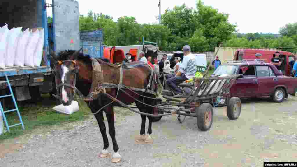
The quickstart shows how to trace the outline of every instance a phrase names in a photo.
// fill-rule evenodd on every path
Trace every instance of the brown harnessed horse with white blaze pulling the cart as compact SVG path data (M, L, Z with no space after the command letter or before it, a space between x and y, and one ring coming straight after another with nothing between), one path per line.
M93 75L93 65L92 59L89 56L84 56L80 51L62 51L57 56L52 52L52 56L55 60L55 67L53 68L53 72L56 78L57 85L57 98L59 98L60 102L63 105L70 105L72 100L74 99L75 90L79 90L83 96L90 95L92 92L92 86L94 85L94 75ZM104 61L103 59L97 59L99 62L99 66L103 71L104 83L119 84L122 82L125 86L130 86L134 88L138 88L139 90L144 90L150 83L150 77L152 74L151 67L148 64L141 64L139 62L128 63L127 65L123 65L122 73L120 67L115 64L110 64L108 61ZM134 67L133 67L134 65ZM96 67L97 68L97 67ZM122 75L122 76L121 76ZM122 77L122 79L121 79ZM152 81L151 87L153 87L154 92L157 90L157 82ZM93 85L92 85L93 84ZM140 102L145 102L149 105L155 105L157 100L154 99L156 95L152 93L148 93L145 91L138 91L135 94L129 89L124 89L125 92L119 90L117 87L107 88L104 90L107 94L110 94L112 97L116 97L120 101L125 104L136 103L137 108L144 113L148 114L157 114L157 108L150 107L148 105L144 105ZM59 93L60 92L60 93ZM142 96L146 97L142 97ZM151 97L151 98L148 98ZM137 99L138 101L136 101ZM109 142L106 134L106 128L104 123L104 117L102 111L99 111L105 105L113 102L110 98L108 98L104 93L99 93L97 99L91 99L90 101L86 101L88 103L91 112L94 114L97 119L102 137L103 137L103 149L100 153L100 157L107 157ZM103 108L105 111L109 134L112 138L113 143L113 151L114 154L112 156L112 162L119 162L121 160L121 155L119 155L118 150L119 146L116 141L116 132L114 127L114 111L113 106L121 106L119 103L113 102L110 105L107 105ZM149 119L149 128L147 131L147 135L145 135L145 123L146 123L146 115L141 115L141 128L140 128L140 136L137 136L137 142L145 142L151 143L151 126L153 117L148 116Z

